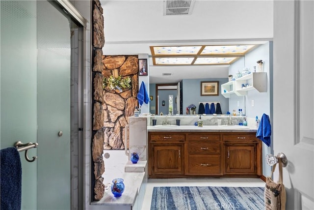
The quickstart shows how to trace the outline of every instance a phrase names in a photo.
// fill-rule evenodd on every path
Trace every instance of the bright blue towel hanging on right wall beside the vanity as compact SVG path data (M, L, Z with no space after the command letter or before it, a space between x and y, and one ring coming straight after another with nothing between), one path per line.
M260 120L259 128L256 132L256 137L262 140L268 147L270 147L270 136L271 136L271 125L269 116L266 114L262 115Z

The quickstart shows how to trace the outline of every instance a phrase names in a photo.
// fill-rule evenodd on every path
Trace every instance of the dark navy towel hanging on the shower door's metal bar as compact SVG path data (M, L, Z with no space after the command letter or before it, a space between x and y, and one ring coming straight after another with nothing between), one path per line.
M0 150L1 156L1 210L20 210L22 193L22 166L14 147Z

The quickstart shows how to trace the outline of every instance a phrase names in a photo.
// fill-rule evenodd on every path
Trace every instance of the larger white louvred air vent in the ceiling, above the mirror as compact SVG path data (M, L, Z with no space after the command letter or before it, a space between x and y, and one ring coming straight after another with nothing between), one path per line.
M190 15L195 0L164 0L163 15Z

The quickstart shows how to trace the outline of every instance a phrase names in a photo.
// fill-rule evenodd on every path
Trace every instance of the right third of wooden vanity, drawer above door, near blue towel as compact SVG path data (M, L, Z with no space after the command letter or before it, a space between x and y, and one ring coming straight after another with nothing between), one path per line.
M226 175L262 175L262 143L255 134L223 135Z

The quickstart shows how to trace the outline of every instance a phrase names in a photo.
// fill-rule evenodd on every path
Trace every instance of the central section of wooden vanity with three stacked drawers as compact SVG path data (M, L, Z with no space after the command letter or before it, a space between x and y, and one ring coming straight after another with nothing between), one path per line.
M186 145L186 175L222 175L219 133L189 133Z

